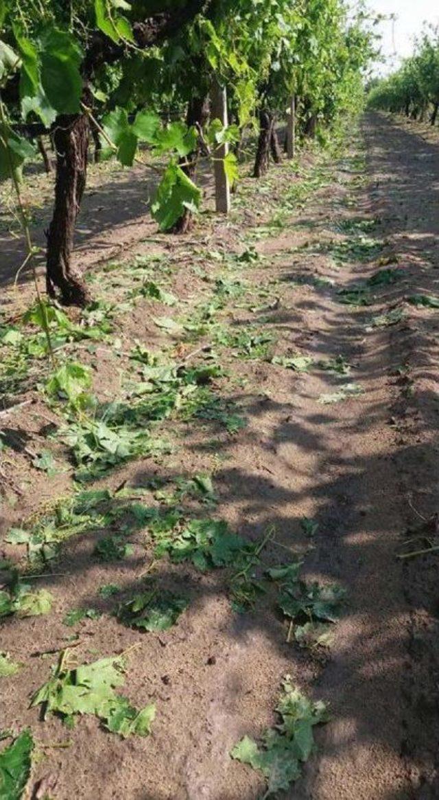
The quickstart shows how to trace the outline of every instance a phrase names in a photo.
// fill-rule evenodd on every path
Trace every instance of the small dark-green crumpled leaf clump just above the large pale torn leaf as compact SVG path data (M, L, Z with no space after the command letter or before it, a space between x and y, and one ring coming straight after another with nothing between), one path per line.
M168 630L186 609L187 600L157 588L134 594L119 606L118 618L125 625L142 630Z

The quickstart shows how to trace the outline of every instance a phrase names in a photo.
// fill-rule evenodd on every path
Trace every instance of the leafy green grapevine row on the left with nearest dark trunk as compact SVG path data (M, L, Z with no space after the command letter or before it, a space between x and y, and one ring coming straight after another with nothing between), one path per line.
M31 266L20 182L50 134L50 298L78 306L91 299L72 264L91 138L98 158L158 172L151 213L161 230L186 232L202 202L200 159L221 158L233 184L253 132L260 176L270 151L281 158L275 123L291 98L299 133L309 136L358 106L371 30L365 12L348 15L342 0L2 0L0 180L14 184ZM230 124L212 113L215 86L227 89Z

